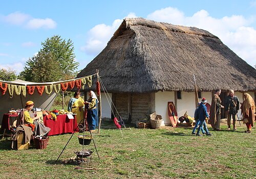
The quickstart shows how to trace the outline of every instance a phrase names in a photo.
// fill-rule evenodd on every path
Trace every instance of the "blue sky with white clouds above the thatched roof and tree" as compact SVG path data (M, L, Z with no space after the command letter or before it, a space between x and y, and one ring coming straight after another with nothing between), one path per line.
M256 65L256 0L0 2L0 69L16 74L54 35L72 40L82 70L106 47L125 17L207 30L248 64Z

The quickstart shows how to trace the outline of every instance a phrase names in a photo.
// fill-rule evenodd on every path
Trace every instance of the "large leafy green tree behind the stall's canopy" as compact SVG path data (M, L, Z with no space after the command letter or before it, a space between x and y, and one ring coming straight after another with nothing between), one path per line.
M26 62L20 76L33 82L67 80L75 77L78 64L73 42L56 35L42 42L42 49Z

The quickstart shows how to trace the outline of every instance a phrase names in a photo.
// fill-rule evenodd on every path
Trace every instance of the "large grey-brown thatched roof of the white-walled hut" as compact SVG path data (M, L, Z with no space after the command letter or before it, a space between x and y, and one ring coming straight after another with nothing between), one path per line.
M112 93L256 91L256 70L208 31L126 18L77 77L99 70Z

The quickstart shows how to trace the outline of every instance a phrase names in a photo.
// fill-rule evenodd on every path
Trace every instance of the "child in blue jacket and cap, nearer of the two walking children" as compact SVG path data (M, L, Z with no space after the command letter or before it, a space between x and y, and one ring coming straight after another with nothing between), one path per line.
M197 136L202 136L202 135L200 135L200 130L202 130L203 125L206 130L206 135L211 136L211 133L209 132L206 122L205 122L205 118L209 118L209 115L207 113L207 108L205 106L206 102L207 102L207 100L205 98L203 98L198 107L197 113L195 114L195 116L198 117L198 121L199 121L199 127L197 129Z

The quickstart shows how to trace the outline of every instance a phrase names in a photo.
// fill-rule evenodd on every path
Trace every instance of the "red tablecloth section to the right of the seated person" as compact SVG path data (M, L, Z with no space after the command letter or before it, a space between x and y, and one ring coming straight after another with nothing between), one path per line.
M44 116L44 124L50 127L51 130L48 136L59 135L61 133L72 133L77 128L76 115L73 115L74 119L69 119L67 115L57 115L57 120L47 119ZM78 129L77 129L78 131Z

